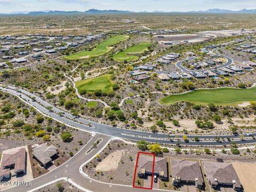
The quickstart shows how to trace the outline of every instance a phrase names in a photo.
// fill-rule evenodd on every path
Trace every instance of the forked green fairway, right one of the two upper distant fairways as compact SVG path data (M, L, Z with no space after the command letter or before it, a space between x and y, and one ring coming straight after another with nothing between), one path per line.
M115 55L113 55L113 58L117 61L132 61L132 60L136 60L139 57L136 55L129 55L130 54L134 54L134 53L143 53L144 51L147 50L147 47L150 46L149 42L142 42L139 43L137 45L133 45L128 47L126 50L124 51L119 51L118 53L116 53Z

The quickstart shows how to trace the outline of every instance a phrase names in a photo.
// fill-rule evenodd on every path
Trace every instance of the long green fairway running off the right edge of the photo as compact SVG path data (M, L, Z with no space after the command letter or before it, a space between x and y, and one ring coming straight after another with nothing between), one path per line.
M183 94L171 94L162 98L160 103L173 104L180 101L193 102L201 105L214 103L220 106L237 106L239 103L256 101L256 87L249 89L202 89Z

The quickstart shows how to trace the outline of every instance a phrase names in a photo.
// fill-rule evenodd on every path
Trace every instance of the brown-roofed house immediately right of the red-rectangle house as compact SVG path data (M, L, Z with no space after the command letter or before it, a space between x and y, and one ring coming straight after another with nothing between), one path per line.
M173 185L178 185L180 182L186 182L195 183L197 188L201 188L203 186L204 179L198 161L171 159L171 167Z

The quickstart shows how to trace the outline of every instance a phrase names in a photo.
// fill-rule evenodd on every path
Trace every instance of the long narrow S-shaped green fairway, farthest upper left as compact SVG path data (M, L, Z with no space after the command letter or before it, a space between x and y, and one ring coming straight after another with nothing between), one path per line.
M65 56L65 58L69 60L76 60L76 59L85 59L88 57L96 57L110 51L111 50L109 47L110 45L114 45L116 43L124 41L127 38L129 38L129 36L127 35L115 35L113 37L110 37L102 41L100 44L96 45L96 47L92 51L80 51L71 55L67 55Z

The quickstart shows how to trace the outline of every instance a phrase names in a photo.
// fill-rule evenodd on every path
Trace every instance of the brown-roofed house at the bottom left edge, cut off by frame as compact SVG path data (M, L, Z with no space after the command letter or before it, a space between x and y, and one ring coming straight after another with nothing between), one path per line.
M3 153L0 165L0 180L10 178L13 175L19 175L26 172L26 149L20 148ZM14 168L14 174L11 175L10 169Z

